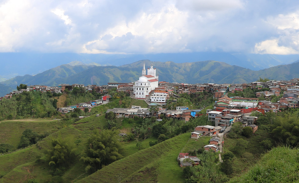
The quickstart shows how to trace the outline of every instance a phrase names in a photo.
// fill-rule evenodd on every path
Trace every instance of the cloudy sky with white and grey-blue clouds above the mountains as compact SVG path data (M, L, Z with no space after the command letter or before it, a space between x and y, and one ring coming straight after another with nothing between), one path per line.
M0 52L299 54L296 0L0 0Z

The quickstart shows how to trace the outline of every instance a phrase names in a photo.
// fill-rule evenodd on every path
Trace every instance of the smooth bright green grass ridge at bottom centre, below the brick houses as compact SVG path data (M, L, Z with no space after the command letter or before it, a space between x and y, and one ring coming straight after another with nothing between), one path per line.
M111 163L78 182L182 182L182 169L176 159L178 153L184 147L185 151L186 147L201 148L209 140L206 137L198 141L189 139L190 133L168 139Z

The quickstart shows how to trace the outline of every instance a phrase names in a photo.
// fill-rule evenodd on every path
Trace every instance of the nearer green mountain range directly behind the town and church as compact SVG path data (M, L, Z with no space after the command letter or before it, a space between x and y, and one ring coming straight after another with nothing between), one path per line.
M141 76L143 63L149 67L152 63L157 68L159 81L178 83L249 83L259 77L271 80L290 80L299 77L299 62L279 65L263 70L250 70L240 66L218 61L192 63L152 62L140 60L122 66L94 66L64 64L40 74L17 76L0 82L3 85L0 95L9 93L19 84L58 86L58 84L97 84L108 82L134 82ZM5 87L7 89L3 89ZM10 88L9 88L10 87Z

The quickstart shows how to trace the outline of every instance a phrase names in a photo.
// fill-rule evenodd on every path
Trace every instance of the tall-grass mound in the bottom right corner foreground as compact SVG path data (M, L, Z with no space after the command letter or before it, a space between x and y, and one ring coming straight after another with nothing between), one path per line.
M266 153L261 160L240 177L229 183L299 182L299 151L277 147Z

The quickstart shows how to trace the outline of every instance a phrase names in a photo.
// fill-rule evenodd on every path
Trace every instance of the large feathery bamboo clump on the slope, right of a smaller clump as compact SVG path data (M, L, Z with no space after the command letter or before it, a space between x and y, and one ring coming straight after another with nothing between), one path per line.
M95 172L116 160L121 159L123 151L121 143L117 139L117 132L110 130L94 131L85 144L85 151L80 160L87 166L86 171Z

